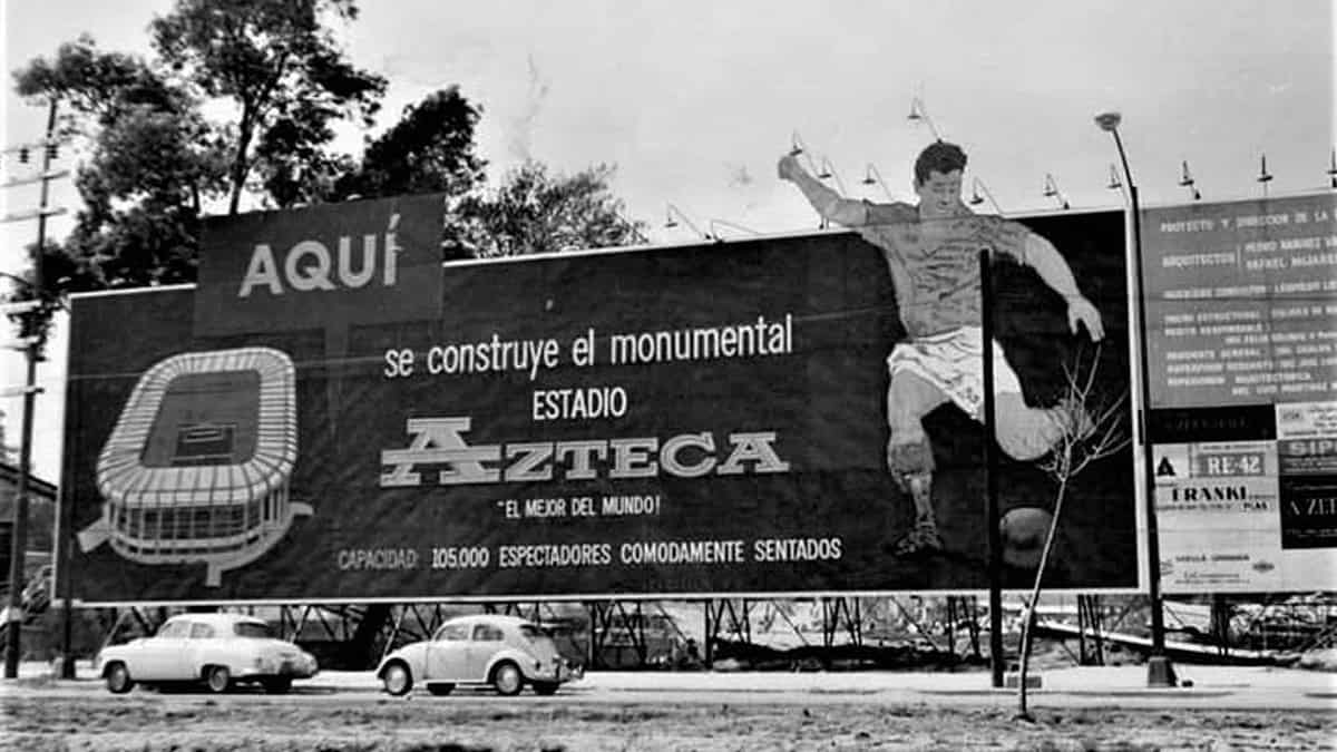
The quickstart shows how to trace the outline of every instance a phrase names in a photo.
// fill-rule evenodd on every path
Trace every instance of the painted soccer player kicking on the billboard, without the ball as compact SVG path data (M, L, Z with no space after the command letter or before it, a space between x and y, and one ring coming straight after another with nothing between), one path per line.
M936 142L915 162L919 205L850 199L810 175L793 155L779 161L779 177L793 182L825 219L856 229L886 258L908 341L886 359L886 464L915 502L915 526L894 547L897 555L941 550L933 515L933 450L923 419L951 400L983 420L984 343L980 318L979 252L992 249L1028 265L1067 301L1072 333L1084 326L1094 341L1104 337L1100 313L1078 290L1072 270L1043 237L1000 217L977 215L961 202L965 153ZM1009 456L1044 456L1067 431L1088 430L1084 412L1060 404L1025 404L1021 383L993 347L996 438ZM1080 421L1082 426L1072 426Z

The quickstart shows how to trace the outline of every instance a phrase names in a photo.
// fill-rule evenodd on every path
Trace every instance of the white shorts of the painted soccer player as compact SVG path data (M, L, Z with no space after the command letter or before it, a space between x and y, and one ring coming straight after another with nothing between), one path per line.
M979 326L961 326L941 335L897 343L886 356L892 379L913 373L943 392L972 419L984 420L984 333ZM993 393L1021 393L1021 381L993 343Z

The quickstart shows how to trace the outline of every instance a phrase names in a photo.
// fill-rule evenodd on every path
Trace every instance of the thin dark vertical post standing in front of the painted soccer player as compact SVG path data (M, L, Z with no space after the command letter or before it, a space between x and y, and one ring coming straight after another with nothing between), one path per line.
M997 447L993 443L993 277L989 252L980 250L980 328L984 340L984 521L989 555L989 670L1003 686L1003 537L999 530Z

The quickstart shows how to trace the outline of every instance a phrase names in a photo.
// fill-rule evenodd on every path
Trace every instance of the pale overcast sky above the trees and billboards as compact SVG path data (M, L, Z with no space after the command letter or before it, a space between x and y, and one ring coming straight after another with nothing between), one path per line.
M170 1L8 0L9 71L91 33L147 55L146 25ZM616 166L615 193L656 242L673 203L703 230L816 227L775 178L798 134L848 193L910 198L910 165L932 139L906 119L920 98L971 155L1007 213L1055 209L1046 174L1075 207L1116 206L1116 159L1092 115L1116 108L1147 203L1183 201L1187 161L1205 199L1322 189L1334 132L1332 0L364 1L341 31L354 64L385 75L384 126L445 86L483 107L477 142L492 181L527 157L562 171ZM7 79L7 87L12 87ZM44 110L5 96L5 145L40 136ZM348 132L349 151L365 134ZM885 182L865 186L872 165ZM5 178L12 162L5 161ZM36 205L5 190L7 210ZM56 202L70 203L68 186ZM68 222L52 222L59 237ZM4 226L0 270L17 272L35 223ZM59 474L63 343L40 371L37 472ZM4 357L0 385L23 380ZM19 400L4 400L17 443Z

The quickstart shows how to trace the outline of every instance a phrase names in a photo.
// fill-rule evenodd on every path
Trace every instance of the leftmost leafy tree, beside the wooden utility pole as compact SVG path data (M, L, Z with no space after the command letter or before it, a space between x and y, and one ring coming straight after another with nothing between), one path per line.
M82 139L90 158L75 186L83 201L66 242L47 242L43 314L28 333L44 335L63 294L194 278L195 222L202 202L218 194L223 171L218 139L190 94L144 60L102 52L83 35L55 58L15 72L27 98L55 100L60 140ZM13 298L37 296L32 269Z

